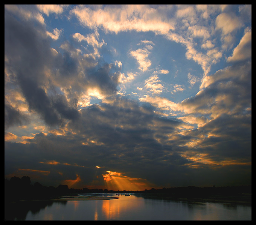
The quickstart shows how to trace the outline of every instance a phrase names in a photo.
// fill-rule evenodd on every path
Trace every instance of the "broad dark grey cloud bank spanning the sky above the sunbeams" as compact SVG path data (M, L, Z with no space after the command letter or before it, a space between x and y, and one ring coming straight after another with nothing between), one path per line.
M248 164L215 165L213 169L211 164L182 156L187 151L197 151L207 153L208 159L214 162L239 157L248 163L250 137L247 135L250 129L242 125L245 124L242 118L233 120L229 115L223 116L202 129L178 136L175 127L180 126L181 121L160 118L154 114L154 108L136 101L123 98L109 101L82 109L78 120L71 121L66 127L70 132L65 135L41 133L31 139L29 145L9 143L5 147L8 171L14 168L50 171L43 176L45 182L55 176L56 182L75 180L78 174L84 187L95 181L95 166L101 166L98 184L103 184L105 171L124 172L162 186L221 185L222 181L232 184L228 180L235 176L234 173L238 180L250 180L245 177L250 174ZM209 132L219 136L201 139L201 144L194 148L186 147L186 142ZM244 134L241 136L239 132ZM175 141L163 141L172 135L176 136ZM59 164L47 164L49 161ZM195 168L190 167L193 165Z

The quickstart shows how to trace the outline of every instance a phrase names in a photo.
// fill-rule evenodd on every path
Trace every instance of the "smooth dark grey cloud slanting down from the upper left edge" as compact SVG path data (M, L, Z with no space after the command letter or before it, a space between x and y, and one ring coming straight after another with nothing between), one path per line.
M38 31L5 15L5 57L6 67L16 74L23 95L31 110L43 115L47 124L58 122L58 115L52 110L45 90L44 66L50 62L49 42L42 40Z

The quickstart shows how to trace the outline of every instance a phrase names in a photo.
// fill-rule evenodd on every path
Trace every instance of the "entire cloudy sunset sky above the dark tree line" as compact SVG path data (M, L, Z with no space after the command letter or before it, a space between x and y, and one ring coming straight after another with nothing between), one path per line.
M69 188L251 184L252 5L4 5L4 174Z

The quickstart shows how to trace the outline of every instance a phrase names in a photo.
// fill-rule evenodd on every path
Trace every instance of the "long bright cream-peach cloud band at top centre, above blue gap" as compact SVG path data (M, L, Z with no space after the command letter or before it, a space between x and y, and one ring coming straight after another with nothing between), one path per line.
M83 26L102 27L105 31L159 31L166 33L173 29L173 23L165 21L165 17L147 5L120 5L114 8L105 6L90 9L87 6L76 6L72 10Z

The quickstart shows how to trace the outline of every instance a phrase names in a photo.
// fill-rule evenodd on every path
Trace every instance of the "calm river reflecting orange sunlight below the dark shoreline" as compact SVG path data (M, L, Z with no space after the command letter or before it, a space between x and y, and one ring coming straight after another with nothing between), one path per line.
M5 208L5 220L27 221L216 221L251 220L251 205L170 201L105 194L110 200L30 201Z

